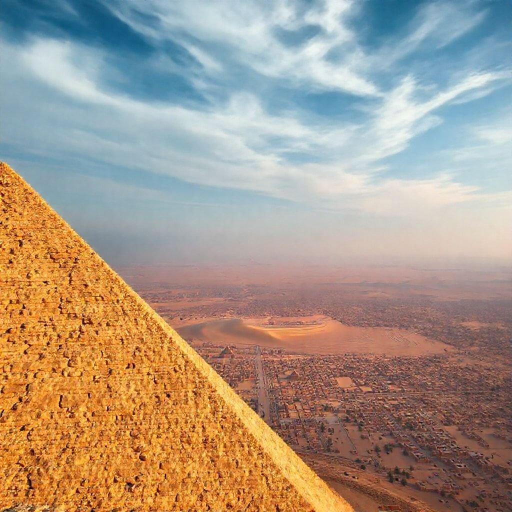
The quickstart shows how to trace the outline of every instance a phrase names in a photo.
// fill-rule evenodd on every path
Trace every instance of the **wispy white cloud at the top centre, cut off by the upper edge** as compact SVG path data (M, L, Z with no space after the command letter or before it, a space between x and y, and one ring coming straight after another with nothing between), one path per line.
M376 86L352 69L348 61L332 62L328 58L334 49L355 49L354 34L347 22L354 10L352 1L319 2L305 12L300 2L222 1L202 4L200 16L187 3L151 0L135 4L137 9L158 15L163 30L152 32L153 37L172 37L187 47L189 41L199 40L203 60L212 58L207 55L208 46L221 45L229 59L268 77L361 96L378 93ZM147 34L146 25L130 15L131 7L121 5L114 9L134 29ZM308 27L317 33L302 44L287 46L278 35L279 31L297 33ZM198 51L197 47L192 48L193 53ZM220 72L219 67L206 68Z

